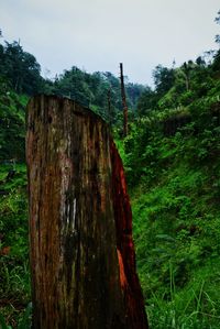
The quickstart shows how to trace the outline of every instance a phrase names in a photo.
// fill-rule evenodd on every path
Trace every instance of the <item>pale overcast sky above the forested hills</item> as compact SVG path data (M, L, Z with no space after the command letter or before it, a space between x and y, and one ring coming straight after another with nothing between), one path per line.
M172 66L217 48L219 0L0 0L4 40L21 41L53 77L78 66L152 84L157 64Z

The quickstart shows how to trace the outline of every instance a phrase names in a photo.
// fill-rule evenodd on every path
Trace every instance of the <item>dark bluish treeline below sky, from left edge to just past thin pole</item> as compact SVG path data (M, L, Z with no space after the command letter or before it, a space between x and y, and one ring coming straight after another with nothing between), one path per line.
M41 65L19 42L4 41L0 44L0 84L1 90L11 88L16 94L28 96L44 92L68 97L106 117L109 116L108 99L112 113L122 108L120 80L111 73L88 74L73 66L54 79L43 78ZM129 107L135 109L145 88L132 83L127 83L125 88Z

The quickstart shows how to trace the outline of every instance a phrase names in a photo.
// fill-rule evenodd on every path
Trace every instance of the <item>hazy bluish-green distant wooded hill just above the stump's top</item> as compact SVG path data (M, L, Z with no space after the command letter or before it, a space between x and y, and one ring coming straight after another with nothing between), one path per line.
M144 87L131 83L125 87L129 107L135 110L136 101ZM88 74L74 66L70 70L65 70L54 83L46 81L45 91L77 100L113 123L122 109L119 78L109 72ZM110 101L110 109L108 101Z

